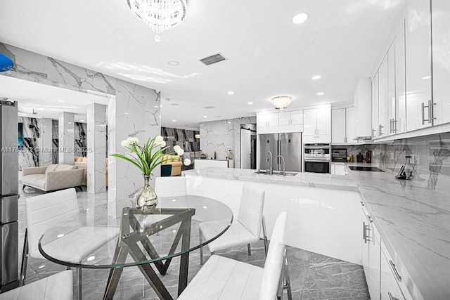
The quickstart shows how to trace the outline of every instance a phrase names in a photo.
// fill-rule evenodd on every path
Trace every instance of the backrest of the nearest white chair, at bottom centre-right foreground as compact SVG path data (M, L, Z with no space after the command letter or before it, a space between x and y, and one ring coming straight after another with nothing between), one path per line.
M270 239L264 273L262 275L259 297L261 300L276 299L278 284L281 279L285 254L285 231L288 214L283 211L276 219Z

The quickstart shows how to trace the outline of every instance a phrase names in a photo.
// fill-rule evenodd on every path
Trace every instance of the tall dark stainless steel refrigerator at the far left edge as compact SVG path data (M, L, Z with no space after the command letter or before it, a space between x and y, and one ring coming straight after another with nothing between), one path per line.
M18 110L1 100L0 156L0 290L18 287Z

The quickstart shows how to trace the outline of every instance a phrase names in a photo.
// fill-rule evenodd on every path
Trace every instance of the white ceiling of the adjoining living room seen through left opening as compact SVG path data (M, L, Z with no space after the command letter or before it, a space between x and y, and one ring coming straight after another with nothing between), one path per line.
M58 119L64 111L73 112L75 122L86 122L87 105L108 105L105 97L7 76L0 76L0 97L18 102L19 116ZM32 114L33 110L36 115Z

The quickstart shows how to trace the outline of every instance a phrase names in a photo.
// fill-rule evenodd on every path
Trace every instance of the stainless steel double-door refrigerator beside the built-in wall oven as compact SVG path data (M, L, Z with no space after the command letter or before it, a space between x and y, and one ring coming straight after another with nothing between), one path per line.
M259 134L259 169L269 168L266 164L269 151L274 171L283 170L282 159L275 159L277 155L284 157L286 171L302 171L302 133Z

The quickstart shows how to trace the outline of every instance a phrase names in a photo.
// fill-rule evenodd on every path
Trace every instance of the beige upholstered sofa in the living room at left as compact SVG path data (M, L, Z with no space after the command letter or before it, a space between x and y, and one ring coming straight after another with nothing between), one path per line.
M23 188L30 186L49 192L65 188L82 190L84 169L71 164L51 164L48 167L29 167L22 169Z

